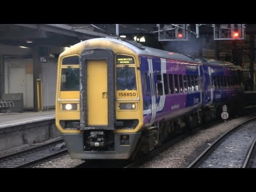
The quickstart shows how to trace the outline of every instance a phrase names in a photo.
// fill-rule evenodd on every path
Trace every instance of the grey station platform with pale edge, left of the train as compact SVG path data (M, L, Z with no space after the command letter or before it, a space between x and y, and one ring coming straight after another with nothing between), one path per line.
M0 113L0 153L60 136L55 126L55 110Z

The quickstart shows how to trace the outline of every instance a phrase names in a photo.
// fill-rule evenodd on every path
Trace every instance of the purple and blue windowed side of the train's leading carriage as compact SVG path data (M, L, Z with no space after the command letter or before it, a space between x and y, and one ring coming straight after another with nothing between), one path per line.
M177 119L201 106L199 65L146 56L140 61L145 127Z

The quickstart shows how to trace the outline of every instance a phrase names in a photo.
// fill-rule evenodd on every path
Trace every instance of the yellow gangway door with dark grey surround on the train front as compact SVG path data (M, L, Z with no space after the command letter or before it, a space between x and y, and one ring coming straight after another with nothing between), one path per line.
M81 130L114 130L115 62L108 49L84 49L80 59Z

